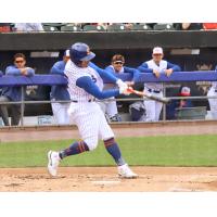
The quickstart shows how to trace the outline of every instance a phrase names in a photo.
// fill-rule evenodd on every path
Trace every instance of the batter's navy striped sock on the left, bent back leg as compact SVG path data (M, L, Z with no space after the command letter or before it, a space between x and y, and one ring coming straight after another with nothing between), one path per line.
M59 153L61 158L66 156L80 154L82 152L89 151L89 148L85 141L74 142L68 149L65 149Z

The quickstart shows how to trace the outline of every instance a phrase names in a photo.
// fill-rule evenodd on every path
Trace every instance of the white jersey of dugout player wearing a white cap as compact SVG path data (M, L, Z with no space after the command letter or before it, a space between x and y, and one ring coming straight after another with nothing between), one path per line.
M149 68L156 69L159 73L162 73L163 71L167 68L167 61L163 61L163 60L159 62L159 65L156 65L156 63L153 60L148 61L146 64ZM144 84L144 87L154 89L154 90L163 90L162 82L146 82Z

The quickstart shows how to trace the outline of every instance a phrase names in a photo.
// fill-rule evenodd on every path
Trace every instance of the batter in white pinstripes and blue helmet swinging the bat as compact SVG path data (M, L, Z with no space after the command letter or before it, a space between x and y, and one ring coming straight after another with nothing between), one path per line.
M74 142L69 148L60 152L49 151L48 170L51 176L56 176L58 166L64 157L92 151L98 145L98 140L102 139L107 152L117 164L118 175L123 178L136 178L122 156L118 144L114 139L114 133L107 124L100 105L94 102L97 99L106 99L118 94L129 94L127 85L120 79L106 72L95 71L89 66L90 60L95 54L89 50L86 43L74 43L69 51L71 60L66 63L65 75L68 79L68 92L72 103L68 115L77 125L81 141ZM102 91L103 80L106 78L116 82L119 89Z

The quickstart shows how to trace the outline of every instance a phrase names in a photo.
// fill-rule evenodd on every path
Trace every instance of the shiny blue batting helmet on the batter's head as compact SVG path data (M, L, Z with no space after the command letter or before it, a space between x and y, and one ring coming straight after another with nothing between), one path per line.
M95 56L95 54L90 51L89 46L81 42L74 43L71 47L69 54L73 62L90 61Z

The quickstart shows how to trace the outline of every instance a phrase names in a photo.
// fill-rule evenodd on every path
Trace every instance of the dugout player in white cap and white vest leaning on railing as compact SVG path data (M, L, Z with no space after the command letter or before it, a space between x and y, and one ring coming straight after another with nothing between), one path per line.
M179 72L181 68L178 65L169 63L163 60L163 49L155 47L152 52L152 60L142 63L138 69L141 73L153 73L156 78L161 77L161 74L166 74L168 77L174 72ZM163 97L163 84L162 82L148 82L144 84L144 92L152 93L153 95ZM157 122L163 107L162 102L145 100L144 101L146 116L144 122Z

